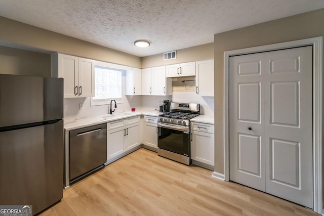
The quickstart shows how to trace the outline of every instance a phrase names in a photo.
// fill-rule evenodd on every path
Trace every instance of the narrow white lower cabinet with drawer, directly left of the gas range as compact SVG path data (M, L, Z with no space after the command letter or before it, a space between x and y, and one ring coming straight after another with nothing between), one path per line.
M143 144L157 151L157 117L144 115L143 118Z

